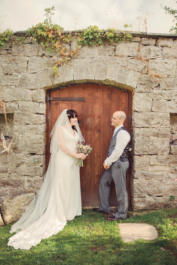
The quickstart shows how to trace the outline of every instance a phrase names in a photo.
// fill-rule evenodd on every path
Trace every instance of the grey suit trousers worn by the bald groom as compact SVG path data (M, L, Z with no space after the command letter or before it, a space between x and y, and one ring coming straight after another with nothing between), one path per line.
M116 218L125 219L128 210L128 195L126 191L126 172L129 162L115 163L106 169L102 174L99 183L100 207L99 210L110 212L109 194L112 180L115 183L116 196L118 201L118 211Z

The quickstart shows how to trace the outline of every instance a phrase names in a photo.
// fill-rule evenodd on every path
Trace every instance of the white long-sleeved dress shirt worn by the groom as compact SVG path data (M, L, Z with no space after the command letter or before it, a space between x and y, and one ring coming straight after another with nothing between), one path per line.
M115 132L117 132L117 130L120 127L123 127L123 124L118 126L115 129ZM115 145L114 151L112 152L112 154L109 157L106 158L104 163L107 166L111 166L113 162L118 160L119 157L122 155L124 148L126 147L126 145L128 144L129 141L130 141L130 134L128 132L126 132L125 130L120 130L116 136L116 145Z

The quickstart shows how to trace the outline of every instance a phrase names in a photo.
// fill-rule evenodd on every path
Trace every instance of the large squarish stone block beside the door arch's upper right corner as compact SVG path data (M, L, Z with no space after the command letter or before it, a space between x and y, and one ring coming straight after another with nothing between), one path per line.
M152 107L152 94L151 93L134 93L133 111L148 112L148 111L151 111L151 107Z

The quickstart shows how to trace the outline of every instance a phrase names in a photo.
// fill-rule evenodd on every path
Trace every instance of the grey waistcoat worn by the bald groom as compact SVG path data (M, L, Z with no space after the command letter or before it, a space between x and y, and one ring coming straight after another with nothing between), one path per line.
M116 138L117 138L117 134L118 132L120 132L120 130L124 130L126 132L128 132L124 127L120 127L116 133L114 134L114 136L112 137L111 141L110 141L110 145L109 145L109 149L108 149L108 157L112 154L112 152L114 151L115 149L115 146L116 146ZM129 133L129 132L128 132ZM115 162L113 162L112 164L114 163L119 163L120 161L121 162L125 162L125 161L128 161L128 156L127 156L127 153L128 153L128 146L129 146L129 142L127 143L122 155L118 158L118 160L116 160Z

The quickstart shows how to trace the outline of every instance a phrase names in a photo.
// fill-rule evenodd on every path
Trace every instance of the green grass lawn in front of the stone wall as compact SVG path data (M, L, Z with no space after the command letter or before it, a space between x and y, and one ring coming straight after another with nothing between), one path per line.
M83 209L62 232L29 250L7 246L12 224L0 227L1 265L173 265L177 256L177 209L129 212L130 218L110 222L102 214ZM170 219L170 220L169 220ZM148 223L158 239L124 243L118 223ZM170 225L169 225L170 224ZM173 241L174 240L174 241ZM162 251L161 248L165 251ZM172 254L170 254L170 252ZM159 259L159 260L158 260Z

